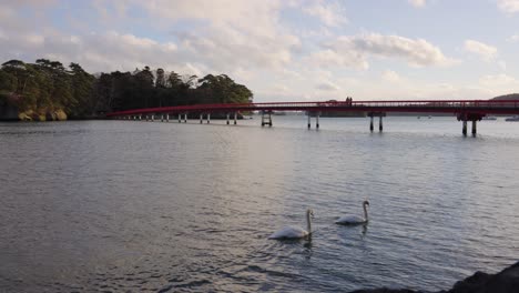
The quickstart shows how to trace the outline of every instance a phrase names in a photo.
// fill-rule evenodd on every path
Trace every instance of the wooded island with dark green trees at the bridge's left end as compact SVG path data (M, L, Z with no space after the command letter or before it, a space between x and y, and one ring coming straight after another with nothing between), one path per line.
M10 60L0 68L0 120L102 118L111 111L201 103L246 103L253 93L226 74L203 78L144 67L92 74L78 63Z

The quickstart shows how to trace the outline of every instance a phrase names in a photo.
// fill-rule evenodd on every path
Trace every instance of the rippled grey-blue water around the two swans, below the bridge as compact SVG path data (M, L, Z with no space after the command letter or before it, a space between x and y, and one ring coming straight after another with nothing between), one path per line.
M0 123L0 292L440 290L518 260L519 123L274 119ZM312 242L267 240L306 208Z

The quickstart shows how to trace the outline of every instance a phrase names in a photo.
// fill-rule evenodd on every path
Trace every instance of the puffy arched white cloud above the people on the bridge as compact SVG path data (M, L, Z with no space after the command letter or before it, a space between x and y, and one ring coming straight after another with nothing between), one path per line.
M400 36L342 36L325 44L325 48L312 55L314 62L360 69L368 68L369 55L404 59L414 67L450 65L456 62L424 39L414 40Z

